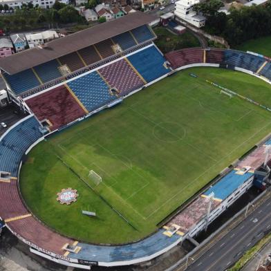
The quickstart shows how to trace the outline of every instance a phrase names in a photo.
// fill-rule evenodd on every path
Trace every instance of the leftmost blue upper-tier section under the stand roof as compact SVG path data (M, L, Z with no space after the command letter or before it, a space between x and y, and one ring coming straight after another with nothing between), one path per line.
M10 84L10 87L15 94L19 94L27 91L30 88L39 86L39 80L37 80L37 77L30 68L28 68L26 71L15 73L15 75L8 75L8 73L4 73L3 76L6 78L8 84Z

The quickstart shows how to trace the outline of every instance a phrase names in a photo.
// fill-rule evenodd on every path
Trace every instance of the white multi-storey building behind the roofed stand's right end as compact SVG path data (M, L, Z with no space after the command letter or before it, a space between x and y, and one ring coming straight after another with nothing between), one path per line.
M200 0L179 0L175 3L174 14L176 17L187 21L187 23L192 24L198 28L205 26L205 17L198 15L193 7L196 3L200 3Z

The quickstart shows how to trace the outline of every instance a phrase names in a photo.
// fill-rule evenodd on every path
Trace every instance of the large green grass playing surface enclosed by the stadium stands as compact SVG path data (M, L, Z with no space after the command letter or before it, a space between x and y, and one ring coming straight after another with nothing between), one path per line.
M268 111L230 99L205 80L271 104L270 85L250 75L218 68L178 72L38 144L21 169L28 207L58 232L87 242L124 243L151 234L167 214L270 133ZM102 176L100 185L88 177L91 169ZM70 206L60 205L57 192L67 187L80 196ZM95 210L97 218L83 216L82 209Z

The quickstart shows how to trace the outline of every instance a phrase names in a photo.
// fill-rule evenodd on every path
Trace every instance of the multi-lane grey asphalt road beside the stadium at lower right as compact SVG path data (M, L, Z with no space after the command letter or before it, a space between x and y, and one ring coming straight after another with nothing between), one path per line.
M230 268L246 250L271 230L271 198L226 234L187 271L223 271Z

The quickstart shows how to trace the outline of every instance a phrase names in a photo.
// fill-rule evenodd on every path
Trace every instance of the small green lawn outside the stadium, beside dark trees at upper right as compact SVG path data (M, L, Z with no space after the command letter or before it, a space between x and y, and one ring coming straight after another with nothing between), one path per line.
M237 46L236 49L243 51L250 50L266 57L271 57L271 36L245 41L244 44Z

